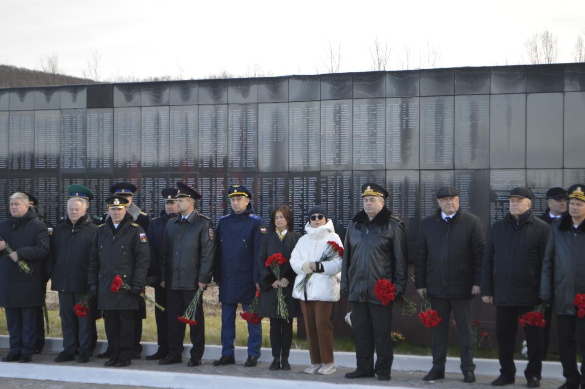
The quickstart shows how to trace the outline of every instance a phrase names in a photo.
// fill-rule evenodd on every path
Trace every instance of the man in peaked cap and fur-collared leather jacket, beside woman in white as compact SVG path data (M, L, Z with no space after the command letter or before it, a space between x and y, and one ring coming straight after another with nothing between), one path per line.
M357 369L346 378L373 377L390 380L392 307L376 297L379 280L394 283L401 299L407 281L407 240L404 224L386 208L388 192L378 184L362 187L363 210L349 222L343 246L341 292L352 302L356 329ZM374 366L374 346L376 365Z

